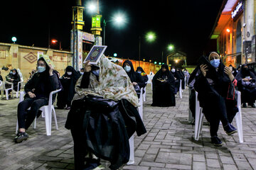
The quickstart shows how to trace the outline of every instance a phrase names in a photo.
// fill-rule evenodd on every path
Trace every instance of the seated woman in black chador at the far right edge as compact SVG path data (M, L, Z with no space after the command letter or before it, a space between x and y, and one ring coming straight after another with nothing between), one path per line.
M247 64L243 64L240 72L238 72L235 79L238 80L238 90L241 91L241 102L244 108L246 103L252 108L255 108L256 99L256 76L253 74Z

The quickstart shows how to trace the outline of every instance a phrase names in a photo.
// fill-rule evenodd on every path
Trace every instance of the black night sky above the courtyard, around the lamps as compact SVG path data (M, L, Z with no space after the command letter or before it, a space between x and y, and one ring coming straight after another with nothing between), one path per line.
M86 4L82 0L82 5ZM167 45L173 44L175 50L187 53L188 64L196 64L206 48L221 4L221 0L100 0L102 20L110 20L115 13L127 16L122 28L107 23L105 55L116 52L117 57L138 60L141 36L141 60L161 62L161 53L168 55ZM50 30L50 39L61 41L63 50L68 50L72 6L71 0L1 1L0 42L11 43L11 37L16 36L20 45L48 47ZM91 16L87 11L84 21L84 31L90 33ZM156 33L154 42L144 38L149 31Z

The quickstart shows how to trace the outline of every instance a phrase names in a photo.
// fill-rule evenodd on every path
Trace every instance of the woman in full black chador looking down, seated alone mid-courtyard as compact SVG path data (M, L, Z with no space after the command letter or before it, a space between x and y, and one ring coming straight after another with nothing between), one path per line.
M153 103L151 106L175 106L174 76L166 64L154 75L153 78Z

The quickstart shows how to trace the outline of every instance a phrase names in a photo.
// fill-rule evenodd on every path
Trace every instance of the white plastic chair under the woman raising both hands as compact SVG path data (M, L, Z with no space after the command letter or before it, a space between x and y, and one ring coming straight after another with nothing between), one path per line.
M238 91L238 113L235 115L235 122L238 128L239 142L243 142L242 134L242 110L241 110L241 93ZM198 92L196 91L196 120L195 120L195 140L199 139L203 125L203 108L199 106Z

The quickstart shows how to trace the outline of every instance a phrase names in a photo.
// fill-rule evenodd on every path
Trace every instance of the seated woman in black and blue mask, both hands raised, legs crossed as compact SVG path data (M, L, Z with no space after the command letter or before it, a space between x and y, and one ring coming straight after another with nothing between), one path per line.
M210 52L208 60L210 64L200 65L201 72L196 76L194 88L206 120L210 123L210 140L213 145L221 146L217 135L220 121L228 135L237 132L231 123L238 108L234 96L228 95L229 90L235 87L236 80L231 70L220 62L217 52Z

